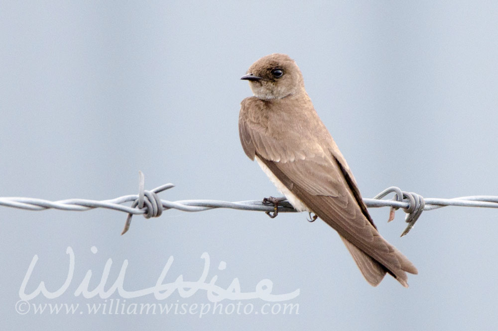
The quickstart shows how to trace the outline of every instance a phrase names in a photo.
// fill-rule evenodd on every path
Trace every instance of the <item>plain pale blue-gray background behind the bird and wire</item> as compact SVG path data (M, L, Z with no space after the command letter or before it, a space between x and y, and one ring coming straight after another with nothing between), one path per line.
M498 195L498 4L493 1L0 2L0 196L109 199L172 182L163 199L240 201L277 195L239 142L239 81L261 56L287 53L365 197L395 185L425 197ZM334 230L307 215L167 211L133 219L107 210L0 207L2 330L490 330L498 318L498 212L448 207L405 227L371 209L381 234L419 270L408 289L371 287ZM98 251L94 254L91 248ZM208 281L243 292L262 279L299 314L25 315L27 284L58 298L30 304L105 303L74 292L89 269L108 289L127 260L127 290ZM220 262L226 268L218 269ZM222 263L223 264L223 263ZM116 292L111 298L119 299ZM109 303L107 299L107 303ZM230 300L222 303L229 304ZM266 302L242 300L258 310ZM132 303L208 304L204 290Z

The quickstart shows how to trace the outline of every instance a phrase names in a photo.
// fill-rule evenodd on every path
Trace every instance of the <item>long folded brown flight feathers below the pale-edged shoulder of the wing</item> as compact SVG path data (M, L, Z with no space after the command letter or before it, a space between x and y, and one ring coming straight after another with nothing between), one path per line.
M406 285L407 280L405 271L417 272L411 262L387 243L370 223L350 189L341 166L334 162L336 159L316 156L281 163L258 157L315 214L348 242L382 264L403 285ZM315 185L319 187L318 190ZM325 191L334 194L324 194Z

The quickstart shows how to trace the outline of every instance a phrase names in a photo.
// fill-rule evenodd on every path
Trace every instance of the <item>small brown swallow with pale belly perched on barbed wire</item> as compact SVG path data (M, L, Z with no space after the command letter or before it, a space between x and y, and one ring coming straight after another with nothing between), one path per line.
M373 286L386 273L408 287L415 266L385 241L373 224L351 170L316 113L301 71L285 54L254 62L247 75L254 96L245 98L239 134L249 159L298 211L312 212L334 228Z

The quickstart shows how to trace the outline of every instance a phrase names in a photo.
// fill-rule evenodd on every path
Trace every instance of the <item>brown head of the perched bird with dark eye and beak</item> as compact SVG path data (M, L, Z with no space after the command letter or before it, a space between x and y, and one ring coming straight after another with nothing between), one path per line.
M294 60L274 53L254 62L241 80L249 81L252 93L260 99L281 99L304 91L303 76Z

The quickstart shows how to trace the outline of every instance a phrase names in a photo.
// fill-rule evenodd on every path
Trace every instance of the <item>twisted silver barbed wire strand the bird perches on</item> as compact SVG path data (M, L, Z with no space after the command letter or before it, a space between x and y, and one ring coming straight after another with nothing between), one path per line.
M144 176L139 171L138 194L124 195L110 200L89 200L89 199L66 199L58 201L49 201L37 198L26 197L0 197L0 206L19 208L25 210L74 210L86 211L95 208L105 208L122 211L128 214L126 224L122 235L128 231L131 217L133 215L143 215L145 218L158 217L164 210L177 209L186 212L200 212L216 208L230 208L238 210L263 211L270 215L271 212L288 213L297 212L285 198L277 198L278 205L268 204L265 200L246 200L246 201L221 201L221 200L162 200L157 193L174 187L168 183L156 187L150 191L144 189ZM394 196L390 200L383 199L390 193ZM406 213L405 221L408 226L401 234L406 235L415 225L415 222L424 210L434 210L446 206L460 207L482 207L498 208L498 196L493 195L473 195L458 198L424 198L414 192L405 192L400 188L391 186L377 194L372 199L364 198L363 201L369 208L390 207L388 222L394 219L394 212L401 208ZM132 202L131 206L125 206L124 203Z

